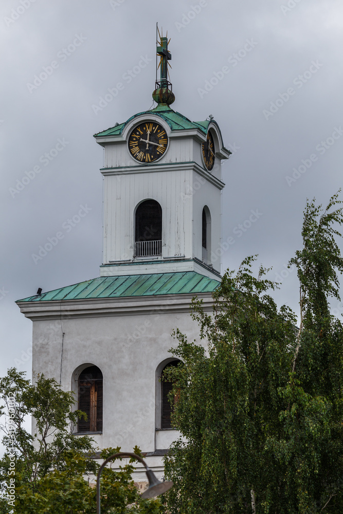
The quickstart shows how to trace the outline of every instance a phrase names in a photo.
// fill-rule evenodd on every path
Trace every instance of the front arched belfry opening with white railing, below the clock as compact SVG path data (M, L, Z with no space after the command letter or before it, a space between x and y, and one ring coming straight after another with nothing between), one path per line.
M162 209L156 200L145 200L135 214L135 257L162 254Z

